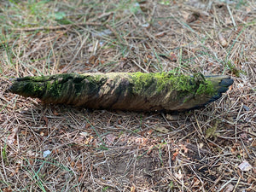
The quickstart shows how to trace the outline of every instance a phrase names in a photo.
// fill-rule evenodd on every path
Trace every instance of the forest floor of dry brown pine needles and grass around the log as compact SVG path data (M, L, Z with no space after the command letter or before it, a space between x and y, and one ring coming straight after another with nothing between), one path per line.
M0 3L0 191L255 191L253 2ZM6 92L10 77L173 69L235 83L177 114L45 106Z

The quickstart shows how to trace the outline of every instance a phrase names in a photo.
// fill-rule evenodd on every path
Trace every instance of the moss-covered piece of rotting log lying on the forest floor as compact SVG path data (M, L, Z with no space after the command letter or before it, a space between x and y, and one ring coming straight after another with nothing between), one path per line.
M230 76L175 73L65 73L15 79L9 90L47 103L133 111L181 111L217 100Z

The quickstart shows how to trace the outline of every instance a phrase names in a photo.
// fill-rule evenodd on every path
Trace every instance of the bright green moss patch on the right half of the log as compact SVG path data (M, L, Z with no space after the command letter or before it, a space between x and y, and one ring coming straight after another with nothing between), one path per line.
M177 75L175 73L132 73L133 91L143 94L143 91L150 90L152 93L163 91L175 91L177 97L185 96L188 93L199 95L212 95L215 89L210 80L206 80L201 73L195 73L194 77ZM146 93L148 94L148 92Z

